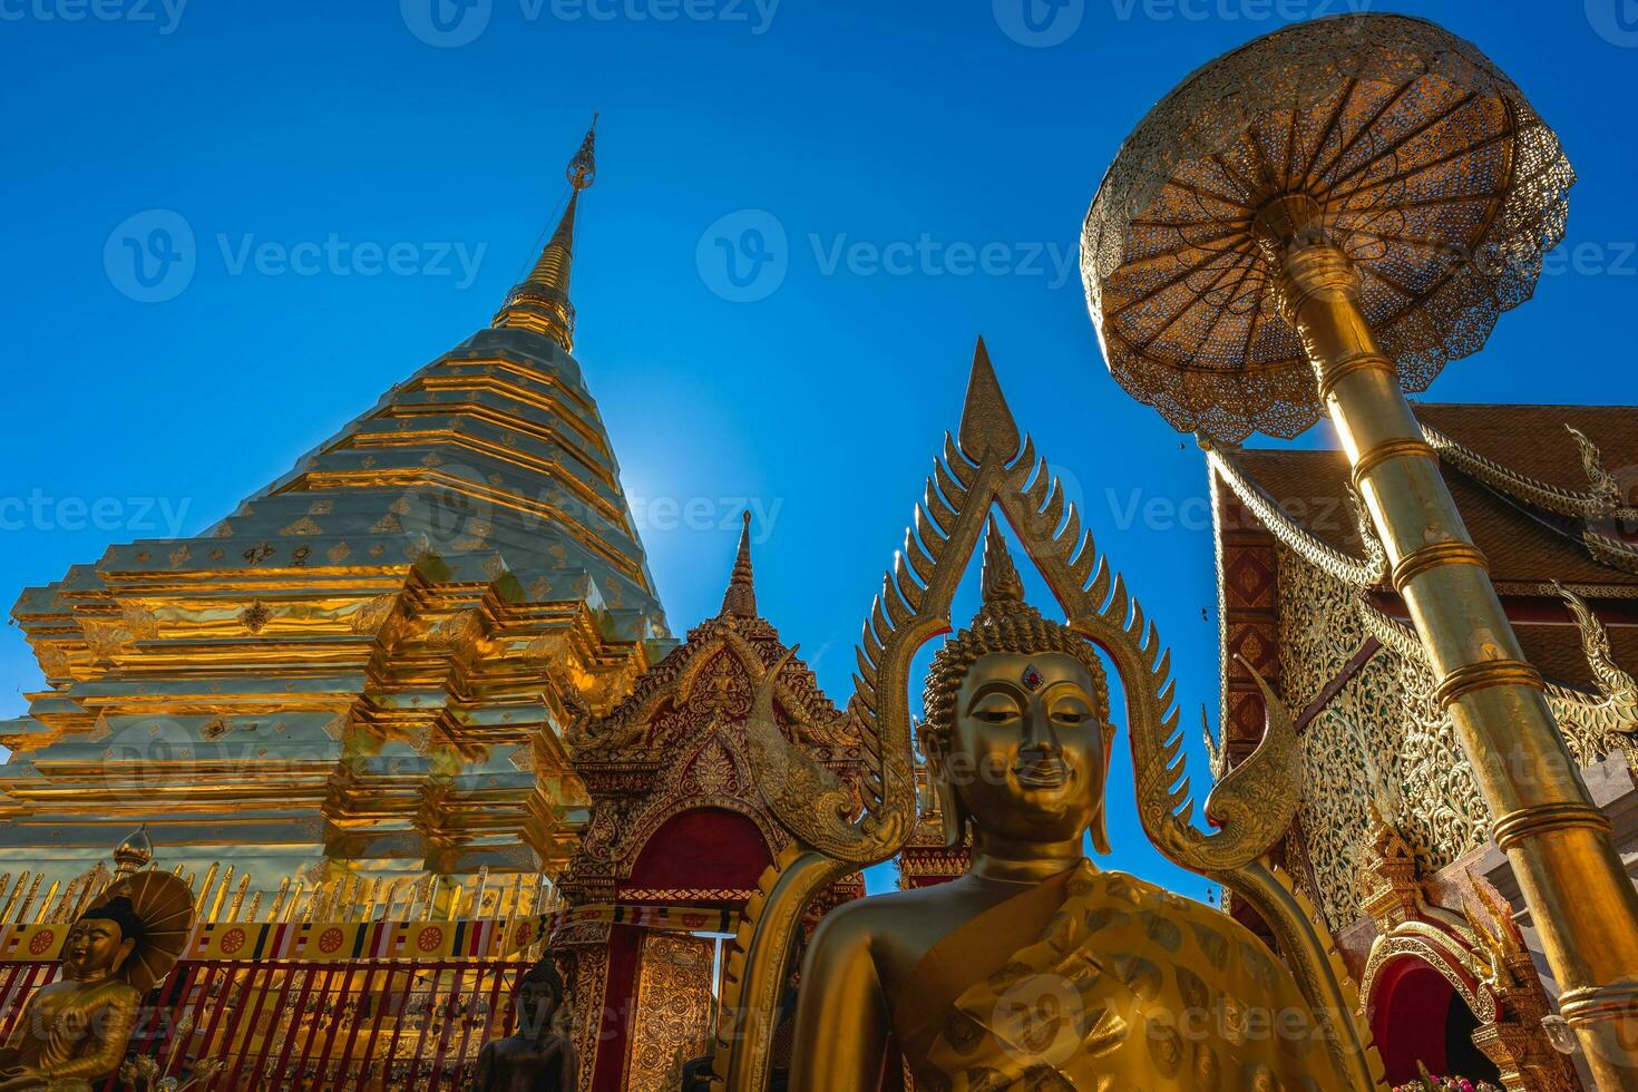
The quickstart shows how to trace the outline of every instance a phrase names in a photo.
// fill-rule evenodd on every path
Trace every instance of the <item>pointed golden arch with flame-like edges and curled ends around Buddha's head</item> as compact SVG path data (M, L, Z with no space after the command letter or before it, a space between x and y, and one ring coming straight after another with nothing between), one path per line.
M1202 873L1256 860L1296 812L1301 773L1289 715L1265 686L1269 730L1263 748L1214 789L1206 805L1214 832L1191 825L1194 802L1173 704L1171 655L1091 532L1081 529L1034 440L1020 437L981 347L960 434L947 439L945 455L927 480L916 527L883 578L858 650L858 691L848 714L876 758L865 814L853 822L839 779L775 729L767 693L758 696L749 732L758 740L752 747L758 784L791 786L770 799L775 814L806 845L853 866L886 860L909 835L916 807L909 663L927 637L950 627L950 599L991 506L1019 530L1070 627L1102 648L1120 673L1138 812L1150 838L1176 863Z

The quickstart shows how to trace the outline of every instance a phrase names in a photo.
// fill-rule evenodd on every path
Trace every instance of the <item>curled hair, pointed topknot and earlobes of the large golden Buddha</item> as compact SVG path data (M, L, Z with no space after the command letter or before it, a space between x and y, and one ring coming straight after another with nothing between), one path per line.
M962 691L966 673L981 657L989 653L1030 655L1058 652L1079 660L1093 679L1096 715L1104 730L1109 724L1109 679L1093 645L1061 622L1042 617L1040 611L1024 602L1024 581L1012 565L1006 539L996 517L989 517L984 537L984 563L981 573L983 606L966 629L948 639L927 670L927 689L922 693L922 725L919 742L922 753L935 766L942 765L955 727L955 697ZM939 784L940 807L945 814L945 838L950 845L962 840L962 822L955 792L948 784ZM1099 814L1101 815L1101 814ZM1109 837L1102 819L1094 825L1093 843L1099 853L1109 851Z

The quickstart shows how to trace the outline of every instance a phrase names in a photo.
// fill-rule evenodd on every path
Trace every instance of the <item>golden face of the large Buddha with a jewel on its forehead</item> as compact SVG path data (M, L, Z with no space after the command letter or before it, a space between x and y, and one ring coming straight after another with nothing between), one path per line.
M981 832L1078 838L1104 804L1107 733L1091 673L1071 655L988 653L955 699L943 776Z

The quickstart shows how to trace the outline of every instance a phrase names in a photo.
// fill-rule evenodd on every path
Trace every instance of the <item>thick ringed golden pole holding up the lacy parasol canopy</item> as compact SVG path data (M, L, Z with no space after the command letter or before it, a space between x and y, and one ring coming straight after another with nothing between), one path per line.
M1307 195L1253 219L1600 1089L1638 1089L1638 894Z

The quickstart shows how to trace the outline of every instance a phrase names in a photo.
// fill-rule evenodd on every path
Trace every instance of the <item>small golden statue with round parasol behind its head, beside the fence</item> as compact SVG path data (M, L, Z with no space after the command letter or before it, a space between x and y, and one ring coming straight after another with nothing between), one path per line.
M69 928L62 977L23 1005L0 1048L0 1092L88 1092L118 1069L143 995L175 964L193 897L175 876L115 881Z

